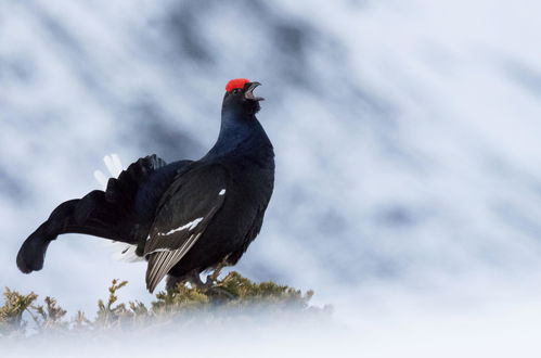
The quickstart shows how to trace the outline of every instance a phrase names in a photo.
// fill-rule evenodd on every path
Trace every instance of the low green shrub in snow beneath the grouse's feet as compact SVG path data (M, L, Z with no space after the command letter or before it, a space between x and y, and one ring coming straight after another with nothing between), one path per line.
M113 280L107 299L98 301L93 320L78 311L70 320L66 311L51 297L43 305L36 305L34 292L22 295L10 289L4 292L4 305L0 307L0 337L50 333L107 332L113 329L149 328L168 322L189 324L202 318L208 321L239 316L253 316L262 311L296 315L329 315L331 307L310 306L312 291L302 293L274 282L255 283L232 271L210 286L190 286L179 283L173 289L156 294L147 307L141 302L118 303L117 292L127 281ZM194 315L197 314L197 315ZM28 330L25 317L31 318L35 332Z

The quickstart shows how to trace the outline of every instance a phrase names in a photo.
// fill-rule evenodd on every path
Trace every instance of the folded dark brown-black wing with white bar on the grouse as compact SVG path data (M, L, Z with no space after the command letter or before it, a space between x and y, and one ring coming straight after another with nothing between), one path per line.
M166 191L144 247L149 291L201 238L223 203L227 181L221 166L204 165L179 176Z

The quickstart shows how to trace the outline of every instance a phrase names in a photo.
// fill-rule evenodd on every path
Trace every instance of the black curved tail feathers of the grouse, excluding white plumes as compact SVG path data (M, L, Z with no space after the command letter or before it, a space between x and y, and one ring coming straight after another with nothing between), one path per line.
M144 243L150 222L136 210L136 196L156 168L164 165L165 162L155 155L140 158L118 178L111 178L105 191L94 190L81 199L60 204L21 246L17 254L21 271L40 270L49 244L63 233L83 233L130 245ZM147 193L146 206L157 203L152 196L154 192Z

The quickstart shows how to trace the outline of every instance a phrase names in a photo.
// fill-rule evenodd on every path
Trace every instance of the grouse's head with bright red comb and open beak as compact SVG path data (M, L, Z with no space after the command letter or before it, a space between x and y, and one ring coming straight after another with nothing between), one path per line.
M263 98L254 95L259 82L250 82L246 78L235 78L226 85L226 95L223 97L223 111L253 115L259 110L259 101Z

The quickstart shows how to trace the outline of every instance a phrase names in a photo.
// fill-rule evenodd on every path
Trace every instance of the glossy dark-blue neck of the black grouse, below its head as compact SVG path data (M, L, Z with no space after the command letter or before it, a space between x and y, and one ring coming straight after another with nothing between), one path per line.
M222 112L220 133L206 158L223 155L249 155L272 145L255 114L239 115Z

